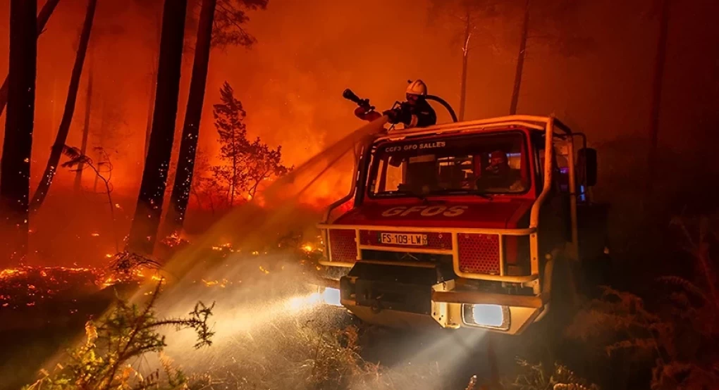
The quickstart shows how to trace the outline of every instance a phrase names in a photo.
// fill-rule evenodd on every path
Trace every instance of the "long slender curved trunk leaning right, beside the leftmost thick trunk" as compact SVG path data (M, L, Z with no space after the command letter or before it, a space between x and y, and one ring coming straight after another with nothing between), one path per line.
M73 114L75 113L75 103L78 100L78 89L80 88L80 78L83 74L83 65L85 63L85 55L88 50L88 42L90 42L90 32L92 31L92 22L95 17L95 9L97 0L89 0L88 8L85 14L85 22L83 22L83 30L80 34L80 46L78 46L78 54L75 56L75 65L73 65L73 73L70 75L70 86L68 87L68 100L65 101L65 111L63 119L60 120L60 128L58 135L55 136L55 144L52 144L50 157L47 159L45 172L40 177L40 184L37 185L35 195L32 197L30 208L37 211L45 201L47 192L50 190L50 184L55 177L55 172L60 164L60 157L63 155L63 147L68 140L70 132L70 124L73 122Z

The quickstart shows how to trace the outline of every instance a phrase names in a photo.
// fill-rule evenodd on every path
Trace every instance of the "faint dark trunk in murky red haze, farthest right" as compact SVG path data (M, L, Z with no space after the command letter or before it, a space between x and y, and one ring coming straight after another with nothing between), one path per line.
M667 35L669 34L669 0L661 1L659 19L659 37L656 40L654 57L654 79L651 82L651 106L649 113L649 152L647 154L646 194L650 195L654 187L656 172L656 148L659 144L659 113L661 108L661 89L664 79L664 63L667 62Z

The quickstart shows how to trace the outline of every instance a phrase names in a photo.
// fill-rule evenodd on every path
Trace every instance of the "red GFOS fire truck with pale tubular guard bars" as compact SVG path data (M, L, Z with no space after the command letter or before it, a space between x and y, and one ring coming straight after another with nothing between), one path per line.
M342 274L326 293L365 322L522 333L574 282L559 262L605 251L596 152L554 117L389 131L356 157L319 228L321 264Z

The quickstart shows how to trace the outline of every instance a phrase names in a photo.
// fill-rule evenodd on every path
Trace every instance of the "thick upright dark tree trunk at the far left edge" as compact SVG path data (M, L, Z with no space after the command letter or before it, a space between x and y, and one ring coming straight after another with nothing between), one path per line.
M0 159L0 265L13 264L27 255L37 70L36 12L37 0L10 1L9 99Z

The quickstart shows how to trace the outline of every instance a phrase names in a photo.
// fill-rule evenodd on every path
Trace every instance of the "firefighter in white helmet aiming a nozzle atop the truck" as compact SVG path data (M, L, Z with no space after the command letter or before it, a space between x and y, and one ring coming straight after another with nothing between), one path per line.
M400 103L396 108L383 112L390 119L390 124L404 124L406 128L427 127L437 123L437 114L427 103L427 85L422 80L414 80L406 90L407 101ZM357 107L354 115L365 121L372 121L379 117L375 111Z

